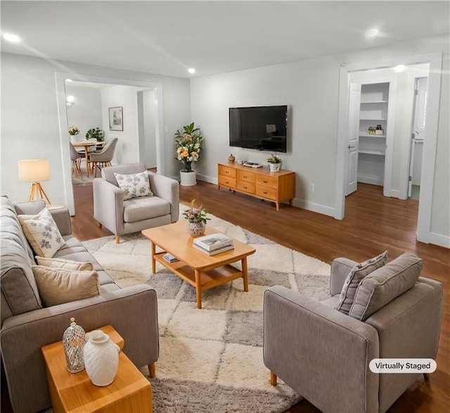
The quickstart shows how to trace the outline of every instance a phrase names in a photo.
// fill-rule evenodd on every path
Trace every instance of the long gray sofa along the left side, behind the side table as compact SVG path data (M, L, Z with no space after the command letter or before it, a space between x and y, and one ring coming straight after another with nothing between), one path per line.
M17 217L37 214L44 206L44 201L13 205L1 197L1 361L15 412L37 412L51 405L41 347L63 338L70 317L75 317L85 331L112 325L124 338L123 350L137 367L148 365L153 369L159 355L155 290L146 285L117 286L71 235L70 215L65 208L51 210L65 240L53 258L92 262L101 294L44 307L31 268L35 265L34 253Z

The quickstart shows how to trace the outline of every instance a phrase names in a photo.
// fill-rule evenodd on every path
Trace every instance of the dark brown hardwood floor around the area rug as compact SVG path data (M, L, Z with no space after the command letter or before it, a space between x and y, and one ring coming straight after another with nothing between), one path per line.
M73 234L80 240L110 235L108 230L98 229L92 217L91 185L74 186L74 193ZM384 250L389 251L390 259L404 252L423 258L423 276L444 284L437 371L430 374L428 383L407 390L389 412L450 412L450 251L416 241L418 201L386 198L380 186L359 184L358 191L346 198L345 219L335 220L288 205L281 205L277 212L274 203L226 189L218 191L216 185L205 182L180 187L181 203L188 205L192 199L217 217L328 263L337 257L363 261ZM269 371L267 374L269 377ZM319 410L302 400L288 412Z

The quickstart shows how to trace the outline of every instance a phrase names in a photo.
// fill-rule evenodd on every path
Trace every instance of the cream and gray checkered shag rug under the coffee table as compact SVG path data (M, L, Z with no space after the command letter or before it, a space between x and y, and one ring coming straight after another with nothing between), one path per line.
M323 300L330 266L210 217L208 225L257 252L248 258L248 293L242 279L212 288L203 293L202 310L192 286L159 264L151 273L150 242L141 234L84 245L120 286L149 284L158 293L160 358L157 379L149 379L154 412L284 412L301 396L281 380L270 385L262 359L264 291L280 284Z

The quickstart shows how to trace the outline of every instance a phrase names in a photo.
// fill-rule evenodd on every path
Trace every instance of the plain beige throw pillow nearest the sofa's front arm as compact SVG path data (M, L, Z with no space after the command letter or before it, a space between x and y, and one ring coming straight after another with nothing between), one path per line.
M100 294L96 271L71 271L41 265L32 265L32 270L39 295L47 307Z

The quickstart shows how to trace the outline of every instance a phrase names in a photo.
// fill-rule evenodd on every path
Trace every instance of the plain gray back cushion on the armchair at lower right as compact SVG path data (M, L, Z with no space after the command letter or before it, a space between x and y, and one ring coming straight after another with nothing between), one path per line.
M364 321L416 284L423 260L404 253L365 277L356 289L349 316Z

